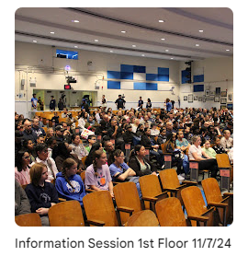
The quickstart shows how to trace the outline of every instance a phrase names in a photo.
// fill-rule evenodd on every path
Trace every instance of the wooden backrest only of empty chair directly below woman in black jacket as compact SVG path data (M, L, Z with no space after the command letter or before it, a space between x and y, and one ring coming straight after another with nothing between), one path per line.
M154 197L162 193L159 179L156 175L145 175L139 179L143 196ZM150 203L145 202L145 209L150 209Z

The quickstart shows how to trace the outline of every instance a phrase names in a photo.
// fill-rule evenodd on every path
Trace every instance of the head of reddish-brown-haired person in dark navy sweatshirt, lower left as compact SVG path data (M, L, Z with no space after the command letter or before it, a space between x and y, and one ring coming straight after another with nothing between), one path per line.
M48 169L43 163L35 163L29 170L31 183L38 187L48 179Z

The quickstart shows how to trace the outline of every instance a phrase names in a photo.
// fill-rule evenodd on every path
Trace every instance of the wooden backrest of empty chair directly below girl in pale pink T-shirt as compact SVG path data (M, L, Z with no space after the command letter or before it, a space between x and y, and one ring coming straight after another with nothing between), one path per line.
M91 192L83 198L87 219L105 222L105 227L118 227L118 218L110 192Z

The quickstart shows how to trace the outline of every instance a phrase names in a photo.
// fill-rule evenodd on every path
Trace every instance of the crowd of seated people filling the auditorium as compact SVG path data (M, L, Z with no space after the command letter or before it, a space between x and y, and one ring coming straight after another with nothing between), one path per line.
M63 115L67 117L68 111ZM39 116L31 120L15 113L16 190L18 196L25 194L21 187L26 186L26 208L38 213L44 226L49 225L44 216L58 203L58 196L78 200L83 209L85 188L107 190L114 198L112 181L130 180L141 195L139 177L157 175L164 168L164 153L172 154L179 180L187 179L186 157L187 163L198 161L199 169L209 169L214 178L219 175L216 154L226 153L233 160L233 112L227 109L99 108L91 113L80 111L77 121L78 126L68 120L45 132ZM85 129L91 132L87 138L81 134ZM126 154L127 144L130 155ZM41 191L50 202L42 202L42 198L35 202ZM19 204L16 202L16 215L20 214Z

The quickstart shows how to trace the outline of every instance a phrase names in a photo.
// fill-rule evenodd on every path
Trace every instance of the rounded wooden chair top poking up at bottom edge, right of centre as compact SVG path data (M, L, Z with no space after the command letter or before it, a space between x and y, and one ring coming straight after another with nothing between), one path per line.
M150 210L144 210L131 215L126 227L158 227L156 215Z

